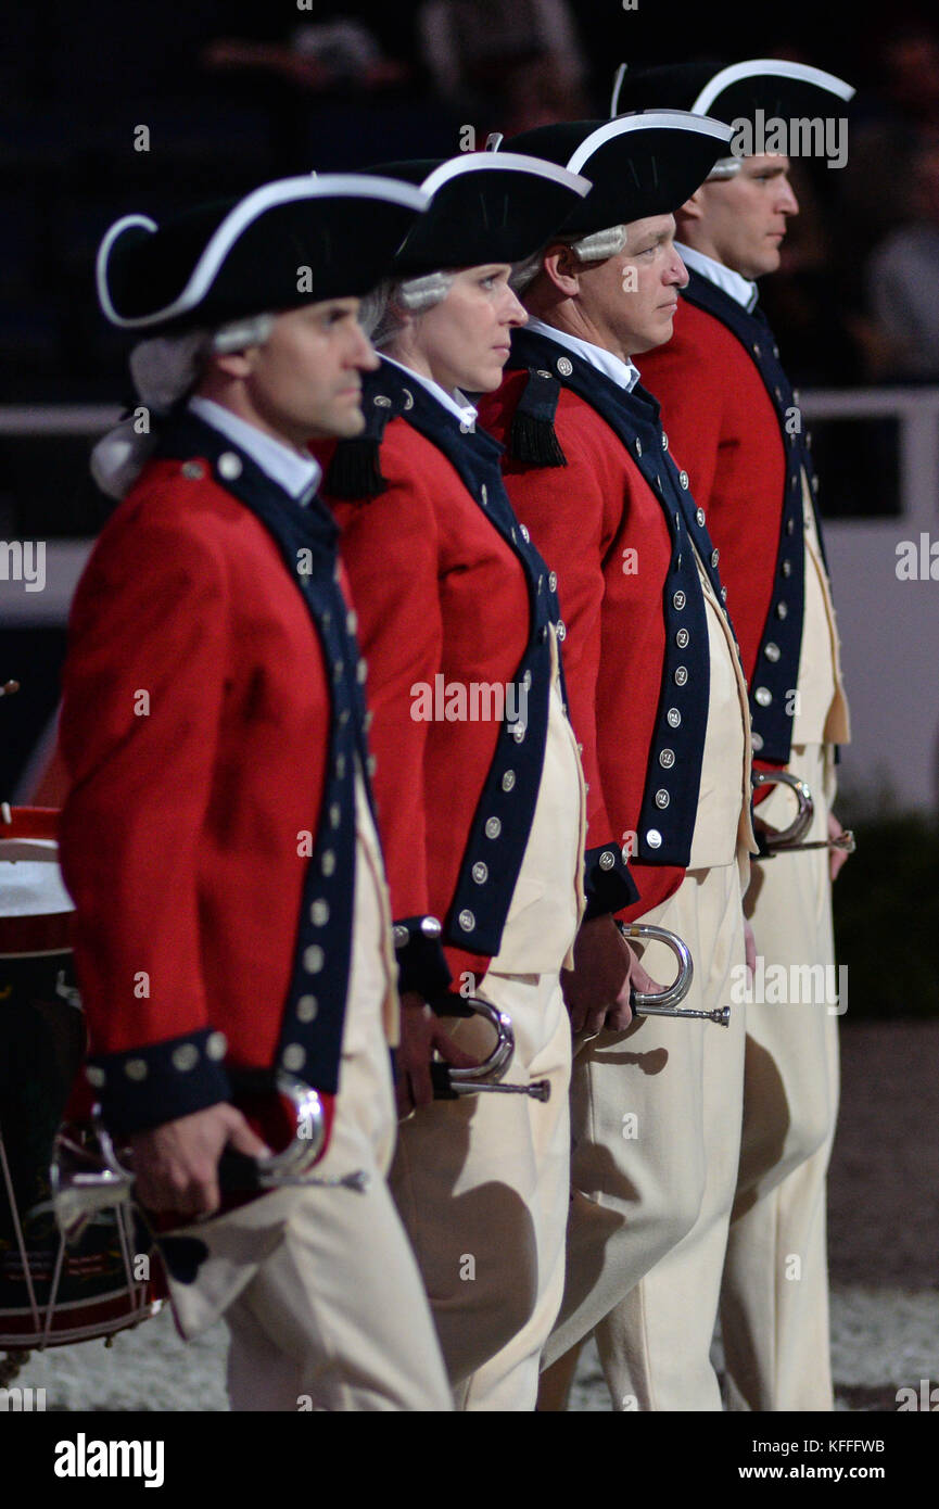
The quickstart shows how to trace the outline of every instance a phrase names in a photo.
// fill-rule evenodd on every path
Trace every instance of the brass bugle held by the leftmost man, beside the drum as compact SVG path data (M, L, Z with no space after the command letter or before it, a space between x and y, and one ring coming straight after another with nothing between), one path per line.
M290 1100L294 1111L291 1141L281 1153L269 1157L251 1157L226 1148L219 1159L219 1188L225 1194L264 1194L290 1185L319 1185L362 1192L368 1183L364 1169L340 1179L319 1179L303 1172L319 1157L326 1138L323 1102L311 1085L284 1070L278 1071L275 1088ZM75 1242L98 1212L136 1201L134 1172L121 1163L113 1139L101 1121L100 1106L92 1109L92 1130L94 1150L62 1133L56 1138L50 1168L51 1200L30 1212L30 1216L38 1216L51 1206L66 1242Z

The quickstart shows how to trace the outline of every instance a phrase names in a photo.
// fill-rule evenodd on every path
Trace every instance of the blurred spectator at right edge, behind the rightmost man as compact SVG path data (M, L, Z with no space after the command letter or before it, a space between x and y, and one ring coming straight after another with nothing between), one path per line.
M937 59L939 63L939 59ZM939 86L939 78L936 80ZM901 177L901 175L898 175ZM903 175L901 223L868 263L870 309L882 335L874 380L939 380L939 131L924 134Z

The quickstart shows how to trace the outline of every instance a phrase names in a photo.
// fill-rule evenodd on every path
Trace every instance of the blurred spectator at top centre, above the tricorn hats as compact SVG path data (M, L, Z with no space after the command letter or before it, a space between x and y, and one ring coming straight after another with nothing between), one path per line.
M590 113L568 0L427 0L418 39L436 92L483 137Z

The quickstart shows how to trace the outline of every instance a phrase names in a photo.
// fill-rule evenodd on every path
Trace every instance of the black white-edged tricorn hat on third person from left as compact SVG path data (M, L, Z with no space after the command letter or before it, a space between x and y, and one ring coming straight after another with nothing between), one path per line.
M646 110L616 121L536 125L507 145L587 174L590 193L557 229L589 235L651 214L672 214L726 155L732 134L720 121L687 110ZM501 137L491 137L489 151L501 155Z

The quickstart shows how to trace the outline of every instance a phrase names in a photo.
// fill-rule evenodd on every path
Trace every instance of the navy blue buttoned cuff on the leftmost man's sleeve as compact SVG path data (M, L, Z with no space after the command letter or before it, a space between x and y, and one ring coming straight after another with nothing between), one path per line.
M85 1074L98 1091L109 1132L128 1135L231 1099L222 1032L199 1028L127 1053L100 1053Z

